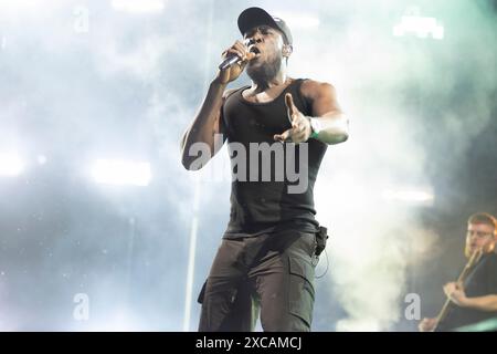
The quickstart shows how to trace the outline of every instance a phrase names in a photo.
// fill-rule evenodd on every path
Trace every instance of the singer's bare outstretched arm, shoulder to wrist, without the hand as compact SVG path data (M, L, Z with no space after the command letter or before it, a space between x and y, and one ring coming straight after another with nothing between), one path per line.
M335 87L328 83L307 80L304 82L302 91L311 103L311 118L318 119L321 126L317 138L326 144L347 140L349 121L338 104Z

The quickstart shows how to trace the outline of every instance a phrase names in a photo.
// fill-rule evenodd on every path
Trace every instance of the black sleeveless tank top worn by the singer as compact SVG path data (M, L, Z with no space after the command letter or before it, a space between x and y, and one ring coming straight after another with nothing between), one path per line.
M247 102L242 92L248 86L241 87L232 93L223 106L223 119L226 127L229 152L231 155L232 174L237 175L231 186L231 214L224 238L252 237L268 232L278 232L287 229L296 229L303 232L316 232L318 222L315 219L314 208L314 184L318 174L327 145L317 139L307 143L307 171L298 170L302 154L306 149L303 144L290 144L275 142L273 136L292 128L287 117L285 94L292 93L295 105L305 115L310 116L310 104L300 94L300 85L304 80L293 81L274 101L268 103ZM254 144L255 143L255 144ZM271 163L263 165L262 154L254 146L263 146L266 143L281 154L272 154ZM275 144L275 145L273 145ZM278 146L276 146L278 145ZM244 147L246 152L246 164L241 166L237 148ZM234 153L236 150L236 154ZM283 152L283 153L282 153ZM282 155L283 154L283 155ZM289 154L289 155L288 155ZM279 156L276 160L276 155ZM267 156L267 155L266 155ZM281 157L284 156L284 176L276 178L276 166L281 167ZM250 164L251 158L258 158L258 164ZM267 159L266 159L267 162ZM294 162L289 168L287 163ZM258 166L258 171L252 166ZM271 168L271 180L263 179L263 171ZM244 173L244 170L246 173ZM292 170L299 174L296 180L292 177ZM305 173L305 176L304 176ZM252 175L252 178L251 178ZM245 178L243 178L245 176ZM255 178L256 177L256 178ZM288 192L288 187L298 186L303 189L304 178L307 178L307 188L302 192ZM283 180L282 180L283 179Z

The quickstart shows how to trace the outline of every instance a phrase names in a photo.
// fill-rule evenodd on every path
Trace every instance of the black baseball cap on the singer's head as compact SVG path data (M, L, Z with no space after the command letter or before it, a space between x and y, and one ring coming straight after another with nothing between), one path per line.
M285 21L279 18L272 17L261 8L248 8L242 11L239 15L239 29L244 35L247 31L257 25L268 25L283 33L283 39L286 44L293 44L292 32L286 25Z

